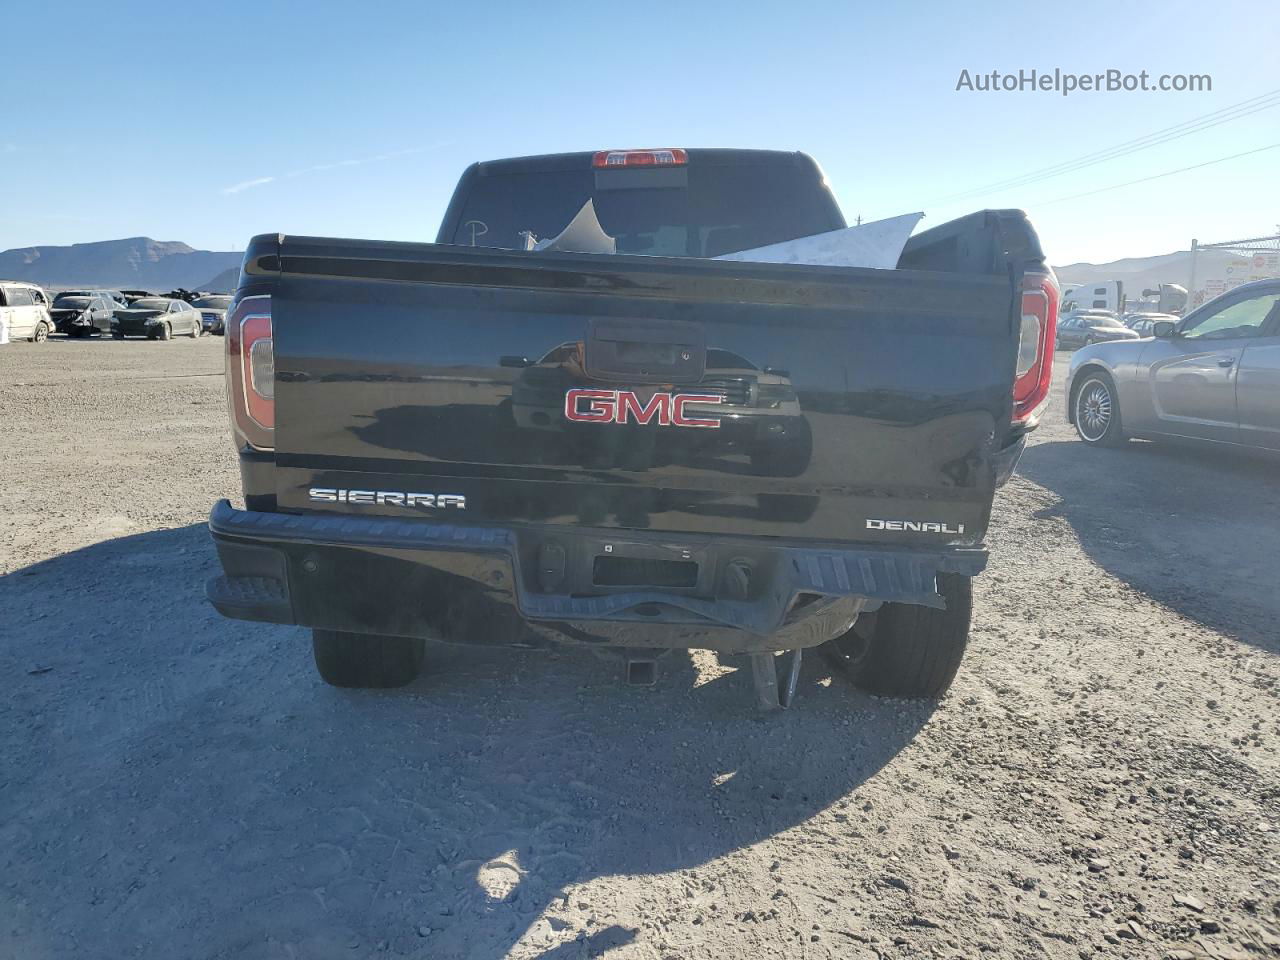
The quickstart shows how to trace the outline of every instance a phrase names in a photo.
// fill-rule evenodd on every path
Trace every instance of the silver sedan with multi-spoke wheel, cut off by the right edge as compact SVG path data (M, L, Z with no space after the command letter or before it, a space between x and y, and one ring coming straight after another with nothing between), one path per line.
M1258 280L1155 339L1098 343L1071 357L1068 419L1080 439L1190 438L1280 449L1280 280Z

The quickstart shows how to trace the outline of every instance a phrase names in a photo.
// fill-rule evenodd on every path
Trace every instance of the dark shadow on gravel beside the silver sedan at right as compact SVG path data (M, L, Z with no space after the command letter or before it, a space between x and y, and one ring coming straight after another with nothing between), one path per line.
M1100 567L1211 630L1280 652L1276 462L1201 447L1038 443L1018 472L1061 500Z

